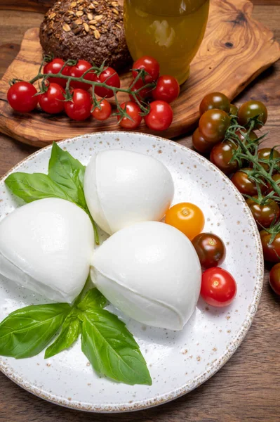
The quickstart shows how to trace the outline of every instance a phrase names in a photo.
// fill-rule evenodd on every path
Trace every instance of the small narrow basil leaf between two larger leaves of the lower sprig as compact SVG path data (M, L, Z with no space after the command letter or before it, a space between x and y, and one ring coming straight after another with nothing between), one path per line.
M62 325L60 334L46 350L45 359L55 356L55 354L62 352L62 350L69 349L78 339L80 333L81 321L78 318L76 309L72 309L72 312L70 312Z

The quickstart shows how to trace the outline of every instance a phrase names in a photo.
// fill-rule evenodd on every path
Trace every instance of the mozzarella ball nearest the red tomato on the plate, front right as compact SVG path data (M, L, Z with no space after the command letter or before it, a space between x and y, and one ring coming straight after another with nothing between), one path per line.
M173 226L142 222L95 250L91 279L116 308L149 326L182 330L201 289L199 257Z

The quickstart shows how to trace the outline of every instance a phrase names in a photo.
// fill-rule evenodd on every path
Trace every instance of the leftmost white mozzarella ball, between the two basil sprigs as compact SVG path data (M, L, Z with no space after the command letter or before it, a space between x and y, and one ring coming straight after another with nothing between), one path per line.
M0 223L0 274L55 302L79 295L93 250L90 218L67 200L36 200Z

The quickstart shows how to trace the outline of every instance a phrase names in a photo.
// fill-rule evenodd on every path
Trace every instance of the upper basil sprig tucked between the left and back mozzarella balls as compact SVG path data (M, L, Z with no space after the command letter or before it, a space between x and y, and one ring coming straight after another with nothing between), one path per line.
M84 195L85 171L86 167L79 160L53 142L51 158L48 162L48 175L16 172L10 174L5 183L15 196L26 203L44 198L60 198L79 205L90 217L95 243L99 245L97 226L88 210Z

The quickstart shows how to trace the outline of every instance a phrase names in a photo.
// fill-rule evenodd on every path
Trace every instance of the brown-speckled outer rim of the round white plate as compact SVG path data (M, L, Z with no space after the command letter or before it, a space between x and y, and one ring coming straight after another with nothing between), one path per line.
M149 135L141 132L129 132L130 134L135 134L137 136L150 136L151 139L156 139L157 141L164 141L164 143L169 143L171 146L175 148L179 148L183 151L187 151L187 153L190 156L195 156L196 158L199 158L201 162L204 162L204 165L206 165L211 171L216 172L220 174L220 178L227 184L227 186L230 186L230 189L232 189L233 193L235 193L237 200L239 200L242 205L244 206L244 212L246 213L246 216L251 221L251 230L253 231L253 235L256 242L256 251L257 254L257 268L256 268L256 274L255 274L255 288L253 290L253 300L251 302L251 305L248 306L248 312L246 314L246 319L244 320L243 324L241 324L241 327L239 329L239 332L236 334L236 337L232 342L229 344L229 347L227 347L227 350L219 357L219 359L216 359L215 362L211 364L211 366L208 367L207 371L202 373L200 376L197 376L193 378L192 381L189 383L185 383L179 388L176 388L172 390L171 392L168 392L164 395L159 395L155 397L154 399L146 399L142 401L136 401L133 403L124 403L124 404L114 404L114 405L90 405L86 403L80 402L79 404L72 403L69 399L65 399L64 397L58 397L57 395L52 395L50 393L44 392L42 388L36 388L35 385L32 385L32 383L29 383L27 381L22 380L18 374L13 373L13 369L11 366L8 366L6 362L4 362L0 358L0 371L4 373L8 378L11 379L14 383L18 384L20 387L24 388L28 392L31 392L32 394L36 395L37 397L40 397L41 399L44 399L48 402L51 402L53 404L58 404L62 407L67 407L69 409L75 409L80 411L88 411L88 412L95 412L95 413L123 413L123 412L129 412L129 411L138 411L142 409L148 409L150 407L156 407L160 404L164 404L167 402L171 402L174 399L177 399L178 397L181 397L182 395L187 394L188 392L191 392L195 388L199 387L199 385L205 383L208 381L209 378L211 378L216 372L218 372L222 366L224 366L230 357L236 352L238 347L241 345L242 341L246 337L246 334L248 333L249 328L251 327L251 324L253 323L253 318L255 316L255 313L258 309L258 304L260 302L260 295L262 293L262 286L263 286L263 279L264 279L264 259L262 254L262 245L260 241L260 234L257 228L257 225L255 224L255 220L253 218L253 215L251 213L251 210L249 209L248 205L246 204L246 201L244 200L243 196L241 196L241 193L236 189L234 184L225 176L224 173L222 173L218 167L215 167L211 162L209 162L206 158L199 155L199 153L196 153L195 151L191 150L190 148L187 148L186 146L181 145L180 143L177 143L175 141L170 141L168 139L162 138L161 136L154 136ZM67 143L74 142L79 139L85 139L88 136L106 136L109 135L115 135L120 136L121 132L112 131L112 132L95 132L92 134L85 134L81 136L75 136L74 138L65 139L64 141L58 142L58 144L61 146L67 145ZM18 170L18 167L22 165L23 162L28 162L29 160L32 160L34 156L44 153L44 151L48 151L48 149L51 149L51 145L45 146L44 148L41 148L39 151L36 151L35 153L29 155L25 160L20 161L17 165L15 165L9 172L4 174L3 177L1 177L0 182L4 181L6 177L8 177L9 174L15 172Z

